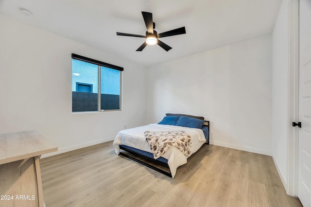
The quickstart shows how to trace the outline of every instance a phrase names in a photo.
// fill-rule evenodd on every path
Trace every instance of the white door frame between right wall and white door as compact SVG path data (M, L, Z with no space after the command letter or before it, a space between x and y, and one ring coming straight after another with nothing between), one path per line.
M299 0L288 0L288 154L286 193L298 196Z

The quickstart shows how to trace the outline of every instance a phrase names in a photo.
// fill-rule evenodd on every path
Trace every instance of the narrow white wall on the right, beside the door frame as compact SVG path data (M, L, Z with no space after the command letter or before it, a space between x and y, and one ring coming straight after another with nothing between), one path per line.
M272 154L286 186L288 154L288 0L283 0L273 31Z

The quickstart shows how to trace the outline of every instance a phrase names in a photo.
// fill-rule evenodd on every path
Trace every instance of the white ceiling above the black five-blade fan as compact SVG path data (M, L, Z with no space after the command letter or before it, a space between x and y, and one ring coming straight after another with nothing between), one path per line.
M161 63L272 32L281 0L0 0L0 14L143 65ZM32 16L20 12L25 8ZM145 35L141 11L153 13L158 33L186 27L186 34L136 49Z

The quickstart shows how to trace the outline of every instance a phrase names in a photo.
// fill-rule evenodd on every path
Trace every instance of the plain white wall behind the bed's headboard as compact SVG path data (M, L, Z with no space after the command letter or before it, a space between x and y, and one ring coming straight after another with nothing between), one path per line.
M147 122L204 116L211 144L271 155L271 71L271 35L149 67Z

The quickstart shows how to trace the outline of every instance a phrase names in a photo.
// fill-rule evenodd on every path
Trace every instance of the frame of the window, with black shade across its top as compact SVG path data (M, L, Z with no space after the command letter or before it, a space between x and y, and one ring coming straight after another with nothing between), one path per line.
M78 61L83 61L86 63L90 64L96 64L97 65L97 79L98 79L98 93L97 93L97 111L72 111L72 60L78 60ZM114 70L119 70L120 71L120 95L119 95L119 109L112 109L112 110L102 110L102 105L101 105L101 99L102 99L102 93L101 93L101 66L111 68ZM98 61L95 59L87 58L81 55L77 55L72 53L71 54L71 113L89 113L89 112L104 112L104 111L122 111L121 106L122 106L122 71L124 70L123 67L113 65L113 64L108 64L104 63L102 61Z

